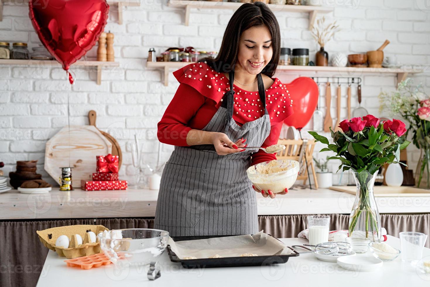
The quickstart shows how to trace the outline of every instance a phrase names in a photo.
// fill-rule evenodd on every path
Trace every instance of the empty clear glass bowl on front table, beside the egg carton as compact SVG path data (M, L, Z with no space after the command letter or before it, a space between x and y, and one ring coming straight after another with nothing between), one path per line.
M142 266L157 261L166 249L169 232L158 229L130 228L100 232L103 253L115 266Z

